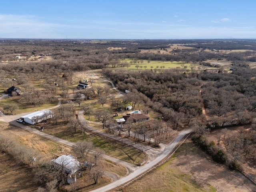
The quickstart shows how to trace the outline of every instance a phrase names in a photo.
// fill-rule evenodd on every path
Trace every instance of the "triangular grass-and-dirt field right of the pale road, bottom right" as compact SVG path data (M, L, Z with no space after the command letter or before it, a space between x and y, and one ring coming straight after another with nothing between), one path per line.
M128 185L124 192L248 192L256 186L240 172L212 161L211 157L187 141L174 158L142 179Z

